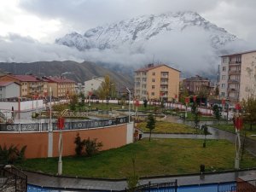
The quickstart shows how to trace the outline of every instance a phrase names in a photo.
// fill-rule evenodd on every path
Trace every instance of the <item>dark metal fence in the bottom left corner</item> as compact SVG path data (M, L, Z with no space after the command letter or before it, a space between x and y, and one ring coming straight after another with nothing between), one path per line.
M26 174L15 168L15 166L4 166L1 170L1 177L6 178L6 181L1 187L1 191L26 192Z

